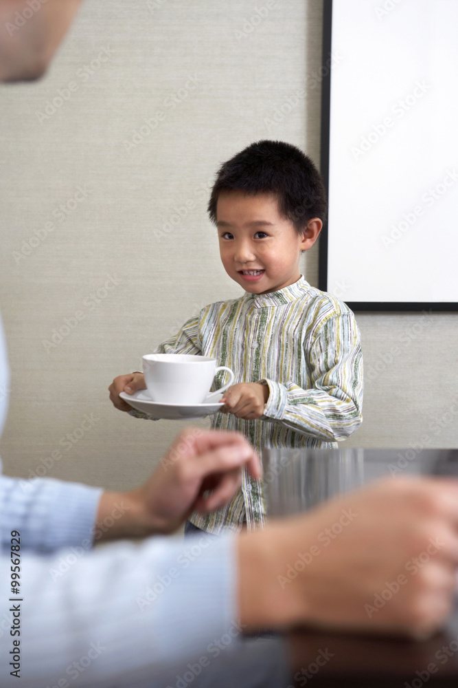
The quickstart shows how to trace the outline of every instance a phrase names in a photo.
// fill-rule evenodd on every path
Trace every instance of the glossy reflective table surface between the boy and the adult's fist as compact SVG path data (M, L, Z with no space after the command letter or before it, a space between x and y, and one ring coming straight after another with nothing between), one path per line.
M306 511L326 499L392 475L455 475L458 449L265 449L268 517Z

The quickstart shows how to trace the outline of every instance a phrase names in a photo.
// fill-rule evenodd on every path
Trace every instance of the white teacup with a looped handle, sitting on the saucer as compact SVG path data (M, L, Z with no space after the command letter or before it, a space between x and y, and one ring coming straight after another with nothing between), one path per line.
M163 404L202 404L220 370L226 370L230 380L215 391L213 397L230 387L234 378L230 368L216 367L216 358L192 354L148 354L143 357L148 392L153 401Z

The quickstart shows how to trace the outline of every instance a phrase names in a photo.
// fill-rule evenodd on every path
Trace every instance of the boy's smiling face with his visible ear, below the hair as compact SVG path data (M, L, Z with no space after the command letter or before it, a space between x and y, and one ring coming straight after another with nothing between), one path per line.
M314 218L299 235L280 215L275 194L249 196L242 191L220 193L216 224L227 274L252 294L268 294L297 282L301 251L314 244L321 229L321 221Z

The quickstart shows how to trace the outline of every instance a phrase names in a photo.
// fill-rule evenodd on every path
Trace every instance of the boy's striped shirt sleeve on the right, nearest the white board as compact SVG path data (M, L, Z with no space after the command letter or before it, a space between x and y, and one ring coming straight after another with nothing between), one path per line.
M349 437L363 420L363 355L353 314L327 319L304 355L312 386L266 380L263 418L328 442Z

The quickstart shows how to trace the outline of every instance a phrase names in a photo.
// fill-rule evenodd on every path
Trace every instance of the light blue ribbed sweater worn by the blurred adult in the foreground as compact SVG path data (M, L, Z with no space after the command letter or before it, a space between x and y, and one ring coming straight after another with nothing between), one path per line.
M0 433L8 387L0 321ZM175 667L186 671L200 653L213 658L226 638L238 643L235 539L156 538L91 550L100 492L0 477L2 688L163 688ZM12 530L21 533L20 594L10 582Z

